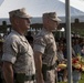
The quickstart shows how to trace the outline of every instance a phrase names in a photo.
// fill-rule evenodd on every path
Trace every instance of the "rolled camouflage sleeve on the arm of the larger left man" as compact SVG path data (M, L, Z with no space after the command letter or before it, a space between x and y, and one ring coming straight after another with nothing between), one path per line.
M12 64L17 60L18 53L18 40L17 38L7 39L3 43L3 55L2 61L11 62Z

